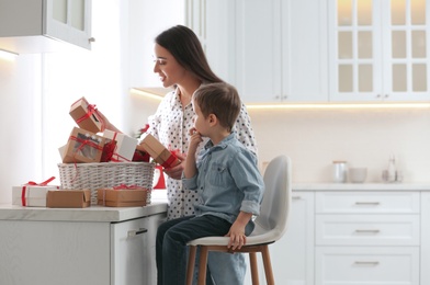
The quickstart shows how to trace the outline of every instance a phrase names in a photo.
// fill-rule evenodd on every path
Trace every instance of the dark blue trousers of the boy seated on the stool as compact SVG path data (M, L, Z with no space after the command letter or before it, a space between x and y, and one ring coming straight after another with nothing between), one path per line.
M211 215L188 216L161 224L157 231L156 241L157 284L185 284L186 243L196 238L225 236L230 227L231 224L227 220ZM227 256L222 256L220 260L229 259L230 254L224 253L224 255ZM219 260L216 255L213 256ZM237 265L244 267L244 264L240 264L240 258L238 260L239 264ZM223 266L223 264L217 265ZM231 265L231 263L228 262L228 265ZM214 269L213 273L216 271L218 270Z

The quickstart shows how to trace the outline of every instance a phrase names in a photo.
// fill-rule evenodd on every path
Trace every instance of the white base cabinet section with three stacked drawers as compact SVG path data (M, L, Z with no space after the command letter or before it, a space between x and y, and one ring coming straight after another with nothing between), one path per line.
M418 192L316 193L315 281L419 285Z

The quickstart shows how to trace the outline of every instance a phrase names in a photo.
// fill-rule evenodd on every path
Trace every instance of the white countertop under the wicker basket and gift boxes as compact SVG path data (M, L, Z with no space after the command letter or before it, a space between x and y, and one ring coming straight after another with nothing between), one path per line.
M63 220L115 223L146 217L167 210L167 204L155 202L145 207L46 208L0 204L0 220Z

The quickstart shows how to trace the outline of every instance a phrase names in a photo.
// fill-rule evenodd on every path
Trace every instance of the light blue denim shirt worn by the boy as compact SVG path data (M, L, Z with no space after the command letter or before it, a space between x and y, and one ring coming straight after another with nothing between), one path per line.
M195 215L214 215L234 223L239 212L260 214L264 182L257 157L231 133L217 146L208 141L197 158L197 172L182 176L184 186L196 191ZM246 231L252 231L253 223ZM249 235L250 232L247 232Z

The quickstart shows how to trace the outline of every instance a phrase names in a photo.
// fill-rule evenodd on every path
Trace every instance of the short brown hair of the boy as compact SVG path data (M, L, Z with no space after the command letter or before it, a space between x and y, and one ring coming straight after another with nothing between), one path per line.
M214 114L223 127L233 129L241 109L236 88L225 82L202 84L194 92L193 100L204 117Z

